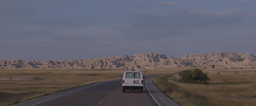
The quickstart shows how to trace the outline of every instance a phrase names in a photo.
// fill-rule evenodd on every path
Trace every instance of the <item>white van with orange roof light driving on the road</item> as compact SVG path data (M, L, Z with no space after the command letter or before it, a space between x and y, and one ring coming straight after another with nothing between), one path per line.
M145 78L142 75L143 70L131 69L124 71L122 86L123 92L126 90L140 90L143 93L143 79Z

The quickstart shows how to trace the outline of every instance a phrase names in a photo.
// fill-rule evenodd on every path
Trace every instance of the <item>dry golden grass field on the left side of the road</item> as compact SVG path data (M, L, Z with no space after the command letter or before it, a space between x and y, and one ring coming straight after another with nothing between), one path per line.
M143 75L175 73L182 70L184 68L144 69ZM97 82L119 79L122 75L122 69L0 70L0 106L16 104Z

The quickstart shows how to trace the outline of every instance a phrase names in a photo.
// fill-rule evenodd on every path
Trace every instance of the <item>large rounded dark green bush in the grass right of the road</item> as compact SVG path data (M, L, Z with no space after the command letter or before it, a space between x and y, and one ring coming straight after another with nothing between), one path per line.
M210 81L207 74L204 74L200 69L194 69L193 71L184 70L179 74L180 80L186 83L207 83Z

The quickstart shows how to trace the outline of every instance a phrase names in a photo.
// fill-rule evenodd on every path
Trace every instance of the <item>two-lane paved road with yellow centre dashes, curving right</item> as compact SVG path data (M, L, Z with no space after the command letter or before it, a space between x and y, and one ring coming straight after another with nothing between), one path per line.
M175 74L175 73L173 73ZM134 105L177 105L159 91L152 82L156 75L146 76L143 93L140 91L122 92L122 79L105 81L68 91L55 93L49 96L29 100L14 106L134 106ZM149 79L149 80L148 80ZM148 90L148 89L149 90Z

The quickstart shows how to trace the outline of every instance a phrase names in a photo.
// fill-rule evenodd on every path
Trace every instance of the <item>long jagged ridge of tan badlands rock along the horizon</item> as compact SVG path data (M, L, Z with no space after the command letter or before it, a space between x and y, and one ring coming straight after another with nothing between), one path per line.
M19 59L0 60L0 69L103 69L103 68L153 68L186 67L186 66L243 66L255 65L256 57L252 53L236 54L229 52L202 53L185 55L183 57L166 57L158 52L139 55L122 55L107 58L79 60L48 60L22 61Z

